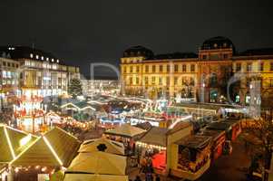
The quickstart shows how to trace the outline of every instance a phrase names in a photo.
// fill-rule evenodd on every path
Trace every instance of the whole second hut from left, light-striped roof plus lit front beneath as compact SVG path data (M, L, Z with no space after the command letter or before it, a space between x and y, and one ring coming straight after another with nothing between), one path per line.
M79 147L80 141L63 129L46 132L11 162L17 169L15 180L36 180L38 174L50 175L55 167L68 167Z

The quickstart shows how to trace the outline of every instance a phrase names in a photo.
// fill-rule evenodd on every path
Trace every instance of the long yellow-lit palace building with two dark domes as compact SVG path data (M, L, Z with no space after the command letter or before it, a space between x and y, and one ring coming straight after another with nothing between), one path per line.
M134 46L123 52L121 74L126 95L217 103L228 100L229 93L230 100L237 103L259 104L272 95L273 50L237 52L234 44L221 36L202 43L198 54L154 55L145 47ZM234 76L239 80L229 85ZM250 95L254 87L250 82L255 80L261 82L263 98Z

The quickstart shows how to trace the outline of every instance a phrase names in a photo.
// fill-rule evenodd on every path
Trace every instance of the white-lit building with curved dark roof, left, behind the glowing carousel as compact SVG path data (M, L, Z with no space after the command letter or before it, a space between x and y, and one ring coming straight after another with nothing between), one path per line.
M15 62L21 94L34 90L43 97L61 95L67 92L69 80L80 78L79 67L65 65L48 52L24 46L0 47L0 52Z

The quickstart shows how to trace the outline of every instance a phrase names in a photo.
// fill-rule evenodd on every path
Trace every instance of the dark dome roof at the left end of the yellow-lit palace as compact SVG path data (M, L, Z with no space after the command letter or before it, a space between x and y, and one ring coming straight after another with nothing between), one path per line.
M146 58L151 58L153 57L153 52L151 52L151 50L140 45L132 46L123 52L123 57L136 57L136 56L144 56Z

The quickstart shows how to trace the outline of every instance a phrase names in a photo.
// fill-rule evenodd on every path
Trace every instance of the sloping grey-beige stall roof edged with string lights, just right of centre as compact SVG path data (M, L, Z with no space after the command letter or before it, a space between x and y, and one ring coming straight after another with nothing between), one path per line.
M140 139L140 142L149 145L156 145L166 147L167 144L167 132L168 129L159 127L152 127L145 135Z

